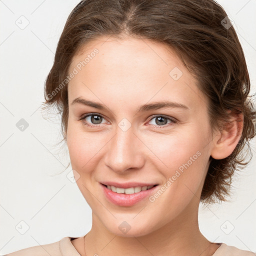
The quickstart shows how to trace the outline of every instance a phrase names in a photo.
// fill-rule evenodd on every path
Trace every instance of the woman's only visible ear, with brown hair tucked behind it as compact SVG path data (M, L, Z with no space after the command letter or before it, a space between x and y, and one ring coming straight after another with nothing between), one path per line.
M229 113L231 110L229 109ZM237 145L243 128L243 114L230 113L231 120L223 123L223 128L213 138L211 157L223 159L230 155Z

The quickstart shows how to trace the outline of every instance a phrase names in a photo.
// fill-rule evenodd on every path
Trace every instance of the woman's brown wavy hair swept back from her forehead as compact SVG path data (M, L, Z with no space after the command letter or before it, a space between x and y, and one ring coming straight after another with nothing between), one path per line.
M247 144L251 153L248 140L256 135L256 111L248 95L250 80L242 47L233 25L224 24L232 23L213 0L80 1L69 14L57 43L45 80L44 107L55 106L61 114L61 132L66 140L68 93L63 81L68 84L68 68L82 46L101 36L131 36L167 45L208 98L212 131L221 131L231 120L227 109L243 114L239 120L243 121L241 137L232 153L224 159L210 156L200 197L204 203L226 201L234 170L251 159L245 161L248 150L242 149Z

